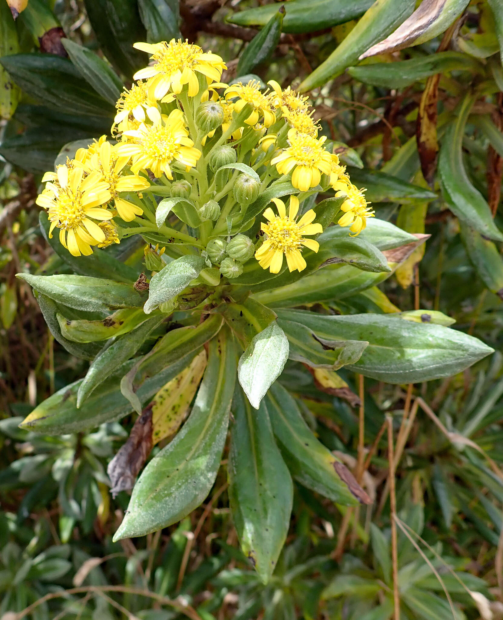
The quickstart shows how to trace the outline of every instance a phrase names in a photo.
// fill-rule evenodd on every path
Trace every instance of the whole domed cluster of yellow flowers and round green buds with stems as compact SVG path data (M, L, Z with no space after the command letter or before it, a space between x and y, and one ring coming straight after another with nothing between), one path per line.
M319 135L307 97L275 81L269 89L257 80L223 84L220 56L187 41L135 48L150 63L122 92L110 138L78 149L43 177L37 204L47 211L50 236L59 228L71 254L138 233L148 243L148 268L164 265L151 250L161 242L167 260L205 257L203 280L216 286L239 277L253 258L271 273L282 270L283 256L290 272L304 270L303 250L319 249L308 237L323 232L316 208L303 209L313 193L332 188L344 196L337 224L352 235L365 228L373 216L365 190L352 185ZM274 187L285 182L283 202L285 191L274 197ZM278 215L259 201L266 189Z

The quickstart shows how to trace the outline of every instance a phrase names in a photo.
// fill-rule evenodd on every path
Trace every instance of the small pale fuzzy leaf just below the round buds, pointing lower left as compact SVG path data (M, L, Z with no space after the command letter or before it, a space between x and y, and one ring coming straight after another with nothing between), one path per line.
M173 299L198 277L206 263L200 256L185 255L156 273L150 281L148 300L143 306L145 314L150 314L159 304Z

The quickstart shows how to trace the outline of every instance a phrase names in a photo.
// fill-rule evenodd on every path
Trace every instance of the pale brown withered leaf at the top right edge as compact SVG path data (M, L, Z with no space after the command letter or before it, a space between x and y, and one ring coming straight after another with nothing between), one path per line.
M470 0L423 0L409 19L385 40L362 54L360 60L430 41L448 29L456 17L465 11L468 2Z

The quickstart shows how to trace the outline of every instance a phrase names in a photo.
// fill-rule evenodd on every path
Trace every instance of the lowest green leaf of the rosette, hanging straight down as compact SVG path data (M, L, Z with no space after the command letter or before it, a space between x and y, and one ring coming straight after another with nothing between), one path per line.
M229 503L243 553L269 582L290 526L293 485L264 404L254 412L234 391L229 448Z

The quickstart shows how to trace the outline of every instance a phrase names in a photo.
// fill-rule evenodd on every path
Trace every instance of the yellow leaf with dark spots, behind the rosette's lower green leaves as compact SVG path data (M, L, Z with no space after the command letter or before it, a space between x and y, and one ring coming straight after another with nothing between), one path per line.
M151 402L152 445L177 432L201 382L208 358L203 349L192 363L161 387Z

